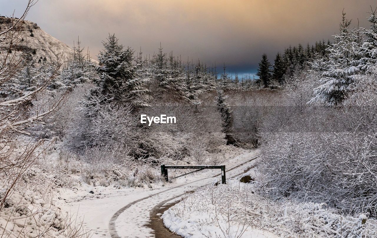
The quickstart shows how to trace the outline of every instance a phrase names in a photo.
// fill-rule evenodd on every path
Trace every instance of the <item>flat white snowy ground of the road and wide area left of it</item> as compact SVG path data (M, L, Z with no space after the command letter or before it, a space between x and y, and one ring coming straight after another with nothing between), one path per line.
M243 173L253 165L252 159L256 155L255 151L244 151L224 163L227 170L230 170L227 172L227 177ZM231 170L240 164L244 165ZM86 185L77 189L61 190L59 196L64 201L63 209L70 214L77 214L78 220L84 222L84 227L92 230L93 237L154 237L153 230L146 226L149 222L150 210L161 201L184 194L186 191L193 191L208 183L221 182L221 176L212 177L219 172L205 170L181 177L164 186L152 185L152 188L116 189ZM121 211L118 212L119 210ZM116 213L117 215L114 216ZM112 217L113 222L110 227L113 230L110 231L109 223Z

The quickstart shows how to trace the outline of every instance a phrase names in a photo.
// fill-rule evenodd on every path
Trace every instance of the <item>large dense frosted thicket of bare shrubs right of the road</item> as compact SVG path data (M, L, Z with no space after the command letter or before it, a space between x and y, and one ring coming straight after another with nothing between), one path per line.
M375 75L338 108L307 107L294 123L262 131L264 186L273 199L325 202L346 214L377 215Z

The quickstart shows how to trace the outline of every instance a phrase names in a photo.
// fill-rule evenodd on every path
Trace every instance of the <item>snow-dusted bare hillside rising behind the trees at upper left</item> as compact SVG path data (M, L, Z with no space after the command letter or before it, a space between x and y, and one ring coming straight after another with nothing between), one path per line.
M0 17L0 30L5 30L12 25L12 21L15 19ZM17 50L31 53L33 58L42 61L45 57L46 60L60 59L66 61L73 52L73 50L63 42L44 32L37 23L31 21L25 21L22 26L21 42L17 46ZM8 47L9 49L9 47ZM1 49L2 52L8 49Z

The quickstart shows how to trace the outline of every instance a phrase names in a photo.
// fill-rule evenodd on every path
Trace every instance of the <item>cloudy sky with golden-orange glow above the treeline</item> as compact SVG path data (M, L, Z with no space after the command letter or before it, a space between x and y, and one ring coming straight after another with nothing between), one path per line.
M0 0L0 14L16 16L26 0ZM166 52L230 72L253 73L263 53L271 61L289 45L313 44L337 32L342 10L368 27L372 0L39 0L28 16L68 45L80 36L91 55L115 33L145 54Z

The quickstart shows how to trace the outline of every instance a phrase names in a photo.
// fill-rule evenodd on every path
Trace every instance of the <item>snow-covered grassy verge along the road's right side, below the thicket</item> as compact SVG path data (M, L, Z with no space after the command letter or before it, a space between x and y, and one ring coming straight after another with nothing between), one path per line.
M244 175L251 175L247 173ZM271 201L256 183L229 179L187 195L162 215L183 237L376 237L377 221L340 215L324 203Z

